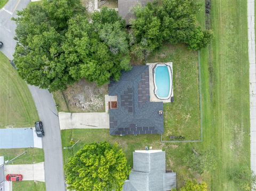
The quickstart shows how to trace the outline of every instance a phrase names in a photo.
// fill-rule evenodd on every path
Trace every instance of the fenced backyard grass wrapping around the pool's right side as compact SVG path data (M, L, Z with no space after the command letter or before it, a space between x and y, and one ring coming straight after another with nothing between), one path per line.
M169 136L200 139L197 52L185 45L164 44L148 58L149 63L173 63L173 103L164 103L163 140Z

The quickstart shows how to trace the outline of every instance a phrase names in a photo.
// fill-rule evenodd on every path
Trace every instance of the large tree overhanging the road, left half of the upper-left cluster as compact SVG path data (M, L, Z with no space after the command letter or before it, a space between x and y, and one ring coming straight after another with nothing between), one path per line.
M43 5L29 5L13 18L17 23L14 62L28 84L52 92L75 82L69 74L74 66L63 59L62 44L68 20L83 11L80 5L78 0L44 1Z

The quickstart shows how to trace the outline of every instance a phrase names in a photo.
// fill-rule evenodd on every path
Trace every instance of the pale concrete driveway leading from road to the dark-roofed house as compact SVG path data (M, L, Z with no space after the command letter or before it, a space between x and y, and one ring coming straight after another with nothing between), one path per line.
M59 112L60 129L109 129L108 113Z

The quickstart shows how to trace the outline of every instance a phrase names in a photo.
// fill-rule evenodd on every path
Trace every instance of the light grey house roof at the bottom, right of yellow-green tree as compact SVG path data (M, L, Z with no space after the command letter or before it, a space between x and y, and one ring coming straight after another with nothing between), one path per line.
M123 191L166 191L176 188L176 173L165 169L162 150L133 152L133 169Z

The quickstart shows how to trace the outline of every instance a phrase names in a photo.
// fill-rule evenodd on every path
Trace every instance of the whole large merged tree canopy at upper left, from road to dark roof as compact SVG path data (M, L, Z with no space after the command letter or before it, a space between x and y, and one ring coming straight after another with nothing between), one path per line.
M79 0L52 0L18 15L14 62L30 85L51 92L81 78L103 85L131 68L125 21L114 10L89 18Z

